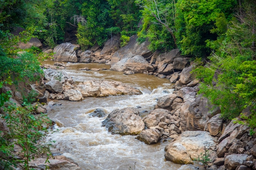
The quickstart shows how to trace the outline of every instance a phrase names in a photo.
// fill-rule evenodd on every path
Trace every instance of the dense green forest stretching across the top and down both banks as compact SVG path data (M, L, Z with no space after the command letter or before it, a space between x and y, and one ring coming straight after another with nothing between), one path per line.
M12 35L17 27L25 31ZM255 0L2 0L0 88L42 74L40 49L17 54L19 41L38 37L53 48L65 42L68 30L76 31L82 50L114 35L121 46L138 35L152 51L178 48L197 63L192 73L201 80L200 93L220 107L223 118L243 113L256 128ZM9 97L2 93L0 106Z

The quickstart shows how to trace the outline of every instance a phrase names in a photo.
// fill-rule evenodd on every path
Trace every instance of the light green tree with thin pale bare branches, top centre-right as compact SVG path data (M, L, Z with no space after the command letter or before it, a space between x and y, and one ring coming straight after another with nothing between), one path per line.
M151 50L171 50L176 43L176 1L175 0L137 0L143 10L143 26L139 37L146 37L151 42Z

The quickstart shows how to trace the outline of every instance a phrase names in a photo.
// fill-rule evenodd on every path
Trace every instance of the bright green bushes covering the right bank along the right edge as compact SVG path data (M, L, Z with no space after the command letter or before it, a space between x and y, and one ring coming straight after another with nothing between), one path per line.
M250 108L250 116L246 119L251 129L255 128L256 99L256 53L255 18L256 3L249 0L243 3L239 14L226 28L216 22L213 32L220 39L212 41L215 50L207 65L193 70L193 74L202 80L200 93L203 93L214 104L220 106L222 117L233 119ZM220 21L225 21L219 15ZM227 31L225 32L225 30Z

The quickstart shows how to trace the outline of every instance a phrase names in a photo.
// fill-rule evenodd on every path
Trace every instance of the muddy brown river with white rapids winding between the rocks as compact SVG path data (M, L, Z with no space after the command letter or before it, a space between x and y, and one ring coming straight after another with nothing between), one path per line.
M44 61L53 64L53 61ZM62 70L76 82L88 79L106 79L121 81L137 87L142 95L109 96L105 98L85 98L79 102L54 100L48 116L56 121L55 133L49 138L56 141L56 152L74 159L83 170L190 170L193 166L180 166L164 159L164 147L168 142L146 145L132 135L112 135L101 127L105 118L90 118L97 108L110 113L114 109L140 107L139 111L150 111L157 103L157 98L170 94L170 81L153 75L132 74L111 70L79 71L78 68L110 68L97 63L67 63ZM58 131L57 131L58 129Z

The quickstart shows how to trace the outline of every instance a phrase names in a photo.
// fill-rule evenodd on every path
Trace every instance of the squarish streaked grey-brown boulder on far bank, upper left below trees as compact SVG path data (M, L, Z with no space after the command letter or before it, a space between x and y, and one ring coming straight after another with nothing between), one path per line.
M76 52L79 46L76 46L71 43L62 43L56 46L53 50L54 54L54 61L66 61L71 63L77 62Z

